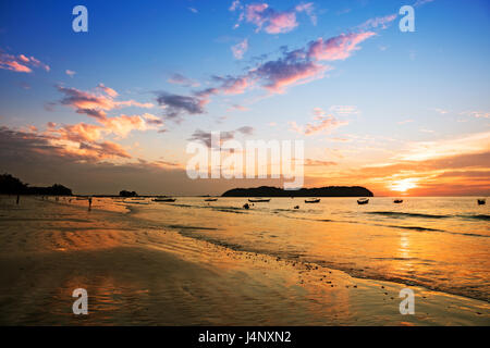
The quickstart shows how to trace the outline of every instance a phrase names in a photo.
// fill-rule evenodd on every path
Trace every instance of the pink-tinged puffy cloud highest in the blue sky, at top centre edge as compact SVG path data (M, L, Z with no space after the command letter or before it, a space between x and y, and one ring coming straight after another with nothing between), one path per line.
M230 11L234 12L238 10L240 17L235 27L240 26L240 23L245 21L246 23L250 23L256 26L256 33L262 29L267 34L290 33L299 25L296 18L296 13L302 12L306 13L311 18L314 24L317 22L313 2L301 3L286 11L277 11L266 2L242 5L240 1L234 1L230 7Z

